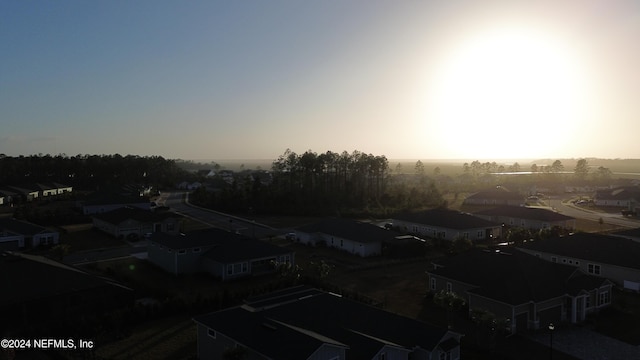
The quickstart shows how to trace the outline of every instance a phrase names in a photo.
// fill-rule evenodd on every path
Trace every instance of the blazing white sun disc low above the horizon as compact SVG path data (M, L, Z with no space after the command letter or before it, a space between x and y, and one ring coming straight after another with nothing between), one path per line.
M477 33L439 67L430 128L452 157L553 156L583 116L579 65L549 34L526 28Z

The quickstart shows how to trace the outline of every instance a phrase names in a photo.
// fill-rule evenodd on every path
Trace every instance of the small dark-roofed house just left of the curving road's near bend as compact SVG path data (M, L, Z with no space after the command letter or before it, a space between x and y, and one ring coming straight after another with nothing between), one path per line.
M123 207L93 215L93 226L116 238L141 237L147 233L178 234L182 216L172 212L153 212Z

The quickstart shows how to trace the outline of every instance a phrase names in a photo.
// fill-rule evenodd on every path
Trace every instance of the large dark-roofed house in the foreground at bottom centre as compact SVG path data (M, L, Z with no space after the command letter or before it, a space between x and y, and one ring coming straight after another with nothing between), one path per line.
M304 286L194 321L200 359L460 359L458 333Z

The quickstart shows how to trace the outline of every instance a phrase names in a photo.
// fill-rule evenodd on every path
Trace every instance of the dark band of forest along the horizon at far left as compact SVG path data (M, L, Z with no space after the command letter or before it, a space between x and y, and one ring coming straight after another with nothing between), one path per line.
M145 184L174 187L189 173L160 156L0 154L0 185L57 182L77 189Z

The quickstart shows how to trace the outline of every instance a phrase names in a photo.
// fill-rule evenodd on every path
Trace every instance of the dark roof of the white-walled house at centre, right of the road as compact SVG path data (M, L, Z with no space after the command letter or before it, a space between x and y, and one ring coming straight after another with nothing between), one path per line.
M398 235L373 224L343 218L325 219L317 223L300 226L296 230L310 234L323 233L363 243L392 240Z

